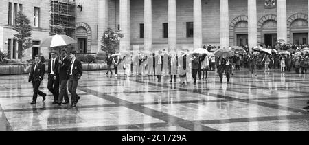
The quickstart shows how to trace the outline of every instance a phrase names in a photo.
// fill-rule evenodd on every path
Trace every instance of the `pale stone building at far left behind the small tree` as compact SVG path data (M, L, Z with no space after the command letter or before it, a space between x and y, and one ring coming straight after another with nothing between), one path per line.
M32 41L33 47L25 51L23 60L30 60L36 54L42 53L45 58L49 56L47 48L40 48L39 45L44 38L49 36L50 30L50 1L45 0L1 0L0 1L0 50L8 53L9 59L19 60L19 45L14 39L16 33L12 30L15 23L16 14L22 11L31 21L33 27Z

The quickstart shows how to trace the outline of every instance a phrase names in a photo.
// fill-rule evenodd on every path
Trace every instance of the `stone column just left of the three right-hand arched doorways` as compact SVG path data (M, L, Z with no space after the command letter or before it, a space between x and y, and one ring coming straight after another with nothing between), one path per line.
M220 47L229 47L229 1L220 0Z

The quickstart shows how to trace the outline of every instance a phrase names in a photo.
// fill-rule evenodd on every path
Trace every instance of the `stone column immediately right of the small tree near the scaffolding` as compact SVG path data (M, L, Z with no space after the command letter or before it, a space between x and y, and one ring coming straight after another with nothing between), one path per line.
M120 0L120 30L124 37L120 40L120 52L130 50L130 0Z

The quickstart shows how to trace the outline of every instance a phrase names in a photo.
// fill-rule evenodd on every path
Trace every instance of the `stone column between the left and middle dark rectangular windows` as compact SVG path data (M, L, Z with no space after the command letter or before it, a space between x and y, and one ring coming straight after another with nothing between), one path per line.
M152 0L144 2L144 50L152 49Z

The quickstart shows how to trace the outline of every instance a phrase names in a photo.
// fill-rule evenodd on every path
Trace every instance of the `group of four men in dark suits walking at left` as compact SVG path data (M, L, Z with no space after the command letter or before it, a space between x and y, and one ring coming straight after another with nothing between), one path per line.
M52 58L48 62L48 83L47 88L54 96L52 104L69 104L68 90L71 93L71 107L76 107L80 96L76 94L78 81L82 76L82 63L76 59L76 51L70 52L67 56L67 51L62 50L60 58L57 58L56 52L51 53ZM41 61L41 56L35 56L35 63L32 64L32 69L29 76L29 82L33 86L33 98L30 104L36 104L37 96L43 97L43 102L46 99L46 93L38 90L45 74L45 65ZM60 91L59 91L60 88ZM65 102L63 102L63 99Z

